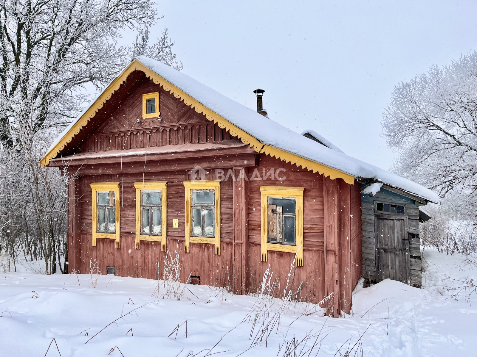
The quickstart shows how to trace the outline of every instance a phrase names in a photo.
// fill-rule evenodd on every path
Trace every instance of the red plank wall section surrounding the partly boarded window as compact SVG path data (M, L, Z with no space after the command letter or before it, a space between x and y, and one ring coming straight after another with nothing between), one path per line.
M265 181L253 180L252 178L263 178L263 172L269 173L273 169L274 172L277 169L285 169L281 171L279 176L286 177L283 181L277 180L276 176L272 179L271 175L266 178ZM293 262L294 254L285 252L268 252L268 262L260 261L260 238L261 238L261 219L260 219L260 186L294 186L304 187L303 191L303 267L295 267L292 270L292 276L290 279L290 286L293 292L299 292L297 297L302 301L319 302L326 297L330 292L330 288L326 287L325 279L326 275L330 275L330 287L332 288L332 262L338 261L338 251L336 251L336 238L344 239L349 238L351 219L345 217L342 220L343 227L347 229L348 235L340 235L339 228L336 227L337 223L330 229L335 230L335 235L330 234L330 241L328 242L328 268L325 268L325 247L324 247L324 201L323 201L323 175L313 174L308 170L297 168L296 166L287 164L283 161L270 158L265 155L260 155L259 168L254 173L254 168L249 168L249 285L250 291L256 292L259 289L262 282L265 271L270 268L270 272L273 272L274 279L280 282L281 291L283 294L284 286L286 285L286 278L290 273L290 267ZM327 178L329 180L329 178ZM356 191L359 187L353 188L353 185L346 184L340 180L340 188L347 192L348 201L350 199L350 192ZM335 185L335 190L338 190L338 180L330 180L332 185ZM329 204L336 205L336 196L330 199ZM356 196L356 194L354 194ZM359 196L358 196L359 197ZM347 202L348 202L347 201ZM348 203L343 203L351 209ZM336 207L336 206L335 206ZM359 207L359 205L358 205ZM335 217L336 214L342 215L338 209L330 210L330 215ZM333 218L330 217L330 218ZM360 224L360 216L354 220L355 224ZM356 232L354 232L356 233ZM357 233L359 235L359 231ZM356 238L359 240L359 237ZM349 312L351 307L351 291L354 288L352 279L350 276L345 277L350 273L350 259L349 256L349 244L348 253L343 255L342 262L346 260L339 268L339 300L341 302L340 307ZM334 260L336 259L336 260ZM327 270L329 270L327 272ZM361 272L360 272L361 275ZM358 277L359 278L359 277ZM355 279L355 278L353 278ZM353 286L352 286L353 285ZM333 291L333 290L332 290ZM280 293L276 293L276 296L280 296ZM338 299L337 299L338 300Z

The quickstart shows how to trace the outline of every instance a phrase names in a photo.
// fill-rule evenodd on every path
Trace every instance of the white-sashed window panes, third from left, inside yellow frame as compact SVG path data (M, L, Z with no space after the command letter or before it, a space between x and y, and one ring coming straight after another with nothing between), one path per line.
M193 237L215 237L215 189L192 190Z

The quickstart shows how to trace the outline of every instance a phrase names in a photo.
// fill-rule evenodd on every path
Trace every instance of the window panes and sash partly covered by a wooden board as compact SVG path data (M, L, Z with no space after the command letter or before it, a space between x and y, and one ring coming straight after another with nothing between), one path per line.
M296 246L296 198L268 198L268 241Z

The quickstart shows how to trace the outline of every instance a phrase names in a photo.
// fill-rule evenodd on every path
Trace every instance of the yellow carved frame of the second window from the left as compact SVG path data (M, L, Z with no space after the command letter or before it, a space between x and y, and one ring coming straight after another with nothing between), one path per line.
M134 183L136 188L136 249L141 248L141 240L161 242L161 251L166 251L166 229L167 229L167 181L139 181ZM161 210L161 235L146 236L141 234L141 191L161 190L162 210Z

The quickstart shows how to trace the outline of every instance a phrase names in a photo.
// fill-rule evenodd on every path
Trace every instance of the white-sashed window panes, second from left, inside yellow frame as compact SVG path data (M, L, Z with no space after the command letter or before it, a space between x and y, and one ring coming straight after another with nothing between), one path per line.
M162 191L141 190L141 234L162 234Z

